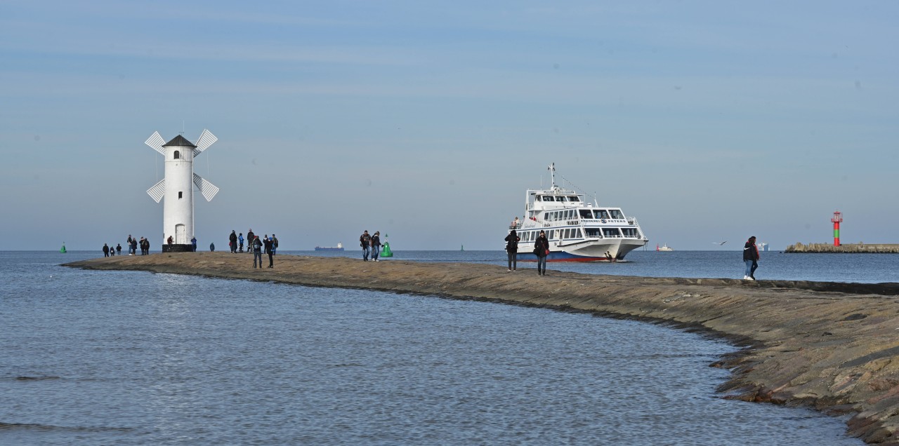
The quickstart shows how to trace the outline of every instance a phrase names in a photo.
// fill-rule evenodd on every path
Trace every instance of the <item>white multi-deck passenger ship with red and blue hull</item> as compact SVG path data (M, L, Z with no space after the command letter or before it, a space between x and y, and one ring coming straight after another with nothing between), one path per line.
M549 166L552 188L528 189L524 219L515 217L509 226L521 241L518 259L537 261L534 241L540 230L547 234L547 262L596 262L623 259L644 246L647 239L636 218L625 216L619 207L584 201L584 195L556 186L556 163Z

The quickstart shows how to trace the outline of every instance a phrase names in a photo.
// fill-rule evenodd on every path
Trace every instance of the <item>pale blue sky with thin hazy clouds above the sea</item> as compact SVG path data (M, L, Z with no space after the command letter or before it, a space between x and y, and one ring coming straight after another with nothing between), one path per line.
M503 249L559 182L648 247L899 243L899 3L0 0L0 249L162 242L144 144L218 142L200 247ZM723 246L715 244L727 240Z

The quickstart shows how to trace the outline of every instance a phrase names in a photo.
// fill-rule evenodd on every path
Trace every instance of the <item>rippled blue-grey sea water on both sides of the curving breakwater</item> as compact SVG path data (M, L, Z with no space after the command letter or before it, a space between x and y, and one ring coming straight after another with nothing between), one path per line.
M739 278L741 255L636 251L551 263L547 275ZM709 335L432 295L61 266L96 257L0 251L0 444L862 444L843 417L724 398L730 372L709 365L738 347ZM384 261L396 259L505 265L503 251ZM756 276L894 282L896 267L892 255L770 252Z

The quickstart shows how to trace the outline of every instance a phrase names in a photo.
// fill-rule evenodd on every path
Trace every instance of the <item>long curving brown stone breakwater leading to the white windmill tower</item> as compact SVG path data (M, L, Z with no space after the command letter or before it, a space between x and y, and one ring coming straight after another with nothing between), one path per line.
M469 263L362 262L184 252L96 258L69 267L139 270L310 286L428 293L640 319L726 337L743 347L712 365L725 398L851 415L868 443L899 445L899 284L582 275ZM663 342L663 341L662 341ZM772 440L777 442L776 439Z

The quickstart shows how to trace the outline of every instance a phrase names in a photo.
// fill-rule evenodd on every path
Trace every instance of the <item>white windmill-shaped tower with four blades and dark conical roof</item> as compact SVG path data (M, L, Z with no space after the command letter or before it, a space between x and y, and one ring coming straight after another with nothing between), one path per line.
M175 136L165 143L159 132L153 132L145 144L153 147L165 156L165 177L147 194L159 203L163 203L163 252L181 252L192 250L193 238L193 187L200 190L206 201L218 194L218 188L209 181L193 173L193 158L203 153L210 145L218 141L212 132L204 129L197 140L191 144L184 136ZM165 143L165 144L164 144ZM173 243L167 241L172 237Z

